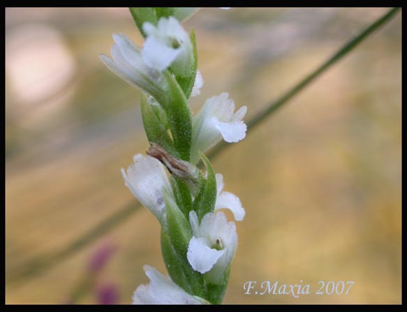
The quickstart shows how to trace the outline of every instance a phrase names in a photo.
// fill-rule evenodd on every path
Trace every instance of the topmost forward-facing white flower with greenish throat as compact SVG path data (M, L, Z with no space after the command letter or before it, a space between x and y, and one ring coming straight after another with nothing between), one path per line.
M175 17L161 17L157 27L145 22L142 29L147 39L141 55L148 66L160 71L171 66L177 74L188 73L193 47L188 33Z

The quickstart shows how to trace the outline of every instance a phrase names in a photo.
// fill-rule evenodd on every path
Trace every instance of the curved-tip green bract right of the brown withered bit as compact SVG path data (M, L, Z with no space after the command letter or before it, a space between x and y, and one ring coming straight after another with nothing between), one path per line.
M216 176L214 168L212 168L209 159L202 153L200 153L203 163L207 170L207 178L202 181L200 191L196 196L192 204L192 209L196 211L199 221L208 212L214 211L216 202Z

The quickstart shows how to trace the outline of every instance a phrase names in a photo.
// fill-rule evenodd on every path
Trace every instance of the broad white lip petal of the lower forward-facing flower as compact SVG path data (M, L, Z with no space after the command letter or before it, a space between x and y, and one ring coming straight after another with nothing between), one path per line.
M195 270L204 274L208 272L225 251L218 251L214 248L209 248L202 238L192 237L188 245L188 253L186 258Z

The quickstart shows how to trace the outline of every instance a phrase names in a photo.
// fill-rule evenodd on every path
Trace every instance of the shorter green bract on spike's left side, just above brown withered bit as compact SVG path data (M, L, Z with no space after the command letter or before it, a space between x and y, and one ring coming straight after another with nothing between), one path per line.
M154 107L155 106L155 107ZM160 112L161 110L161 112ZM174 142L168 134L168 128L166 127L165 116L163 109L157 105L151 105L147 101L147 96L142 94L141 96L141 113L142 123L147 134L149 142L154 142L163 147L168 153L174 157L179 157L177 149L175 149Z

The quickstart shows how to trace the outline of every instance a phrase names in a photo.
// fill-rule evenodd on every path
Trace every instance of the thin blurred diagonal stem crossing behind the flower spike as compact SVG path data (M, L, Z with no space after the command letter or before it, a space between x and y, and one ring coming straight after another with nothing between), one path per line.
M400 8L392 8L387 11L383 16L379 17L375 22L373 22L369 27L364 29L360 32L357 36L353 39L348 41L345 45L343 45L337 52L335 52L332 57L327 59L323 64L318 66L312 73L304 77L300 82L295 84L295 86L289 89L285 94L280 96L276 99L276 101L272 101L269 105L266 105L265 110L262 110L258 114L256 114L252 119L247 122L248 126L248 133L253 131L253 128L258 126L262 121L264 121L267 117L271 116L276 112L280 107L288 103L288 101L297 95L304 87L309 85L313 80L320 76L325 70L330 68L333 64L337 61L343 59L351 50L353 50L359 43L362 42L367 36L373 33L376 29L380 26L385 24L391 20L391 18L397 13ZM209 152L209 158L215 158L219 155L228 144L222 142L221 144L217 145L212 151ZM45 272L47 269L54 267L55 265L62 262L64 259L70 257L71 255L77 253L78 251L82 250L82 248L88 246L89 244L95 242L101 236L105 235L107 232L110 232L114 228L117 228L118 225L123 223L127 220L129 216L131 216L135 211L141 207L140 202L134 203L132 202L129 205L119 209L114 214L109 216L102 221L94 228L89 230L88 232L84 233L84 235L80 236L79 238L75 239L71 244L68 246L62 247L59 251L54 251L52 253L39 255L34 259L28 260L13 270L10 270L6 274L6 280L8 282L17 282L22 281L24 278L29 278L36 276L42 272Z

